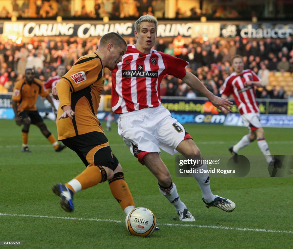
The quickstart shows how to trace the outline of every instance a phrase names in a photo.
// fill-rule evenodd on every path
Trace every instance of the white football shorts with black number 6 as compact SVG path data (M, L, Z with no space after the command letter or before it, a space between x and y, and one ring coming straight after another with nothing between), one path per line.
M133 153L133 145L144 152L176 154L185 137L183 126L163 106L120 114L118 133Z

